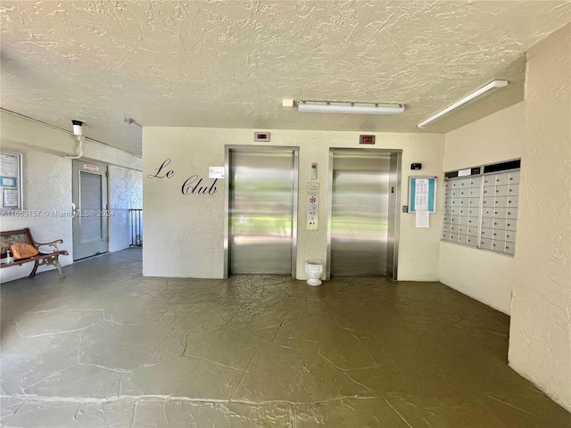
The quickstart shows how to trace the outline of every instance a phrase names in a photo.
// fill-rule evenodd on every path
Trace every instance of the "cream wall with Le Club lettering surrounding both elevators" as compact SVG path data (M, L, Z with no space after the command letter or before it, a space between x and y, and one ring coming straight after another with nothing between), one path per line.
M335 119L335 118L332 118ZM197 174L203 183L209 166L224 165L225 144L254 144L253 129L144 128L143 204L145 211L145 276L221 278L224 276L224 182L217 192L183 195L180 187ZM358 147L359 133L271 131L271 145L299 146L300 200L298 211L297 278L306 279L307 259L325 260L327 251L327 166L329 147ZM259 144L259 143L258 143ZM432 134L377 134L377 149L402 150L401 202L407 198L412 162L422 162L420 174L439 177L442 185L443 136ZM150 178L162 161L170 159L170 178ZM305 230L303 189L310 181L310 164L318 163L319 230ZM401 215L399 279L435 281L441 213L431 215L432 227L416 229L414 217Z

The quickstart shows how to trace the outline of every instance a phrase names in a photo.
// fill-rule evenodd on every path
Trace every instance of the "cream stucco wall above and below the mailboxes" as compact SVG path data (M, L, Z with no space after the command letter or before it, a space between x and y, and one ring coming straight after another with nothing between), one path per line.
M476 120L444 138L444 171L520 158L524 147L524 103ZM440 281L506 314L511 309L513 274L511 257L440 243Z

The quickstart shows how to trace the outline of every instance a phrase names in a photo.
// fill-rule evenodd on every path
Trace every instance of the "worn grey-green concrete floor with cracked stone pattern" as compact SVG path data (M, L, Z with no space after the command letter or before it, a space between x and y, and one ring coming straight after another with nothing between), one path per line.
M64 271L2 285L4 426L571 426L507 366L509 317L443 284Z

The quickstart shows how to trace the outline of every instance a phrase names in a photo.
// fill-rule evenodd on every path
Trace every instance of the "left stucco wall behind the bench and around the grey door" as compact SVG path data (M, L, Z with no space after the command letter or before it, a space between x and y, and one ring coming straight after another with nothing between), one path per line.
M65 155L76 154L77 140L68 132L47 127L34 120L0 112L2 135L0 148L22 154L24 210L65 211L71 210L71 178L72 161ZM128 198L125 189L134 185L139 177L138 195L141 199L141 159L137 156L121 152L104 144L87 140L85 145L86 161L109 164L110 206L122 208ZM138 171L137 171L138 170ZM115 177L112 173L115 172ZM120 190L118 190L120 189ZM130 199L129 199L130 202ZM110 250L124 248L124 235L127 231L120 216L111 219ZM38 217L8 217L0 218L2 230L29 227L37 241L48 242L63 239L62 249L70 252L67 257L60 258L62 265L73 262L73 235L70 217L55 217L40 214ZM117 237L117 239L115 239ZM32 265L4 268L0 270L0 280L4 283L13 279L28 276ZM42 267L38 272L53 267Z

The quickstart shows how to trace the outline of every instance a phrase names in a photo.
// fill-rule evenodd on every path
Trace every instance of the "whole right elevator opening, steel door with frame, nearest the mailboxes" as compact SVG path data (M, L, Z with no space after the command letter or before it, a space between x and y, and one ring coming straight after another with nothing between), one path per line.
M396 279L401 152L331 149L327 279Z

